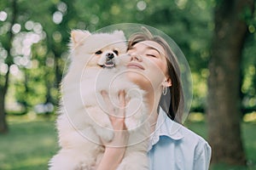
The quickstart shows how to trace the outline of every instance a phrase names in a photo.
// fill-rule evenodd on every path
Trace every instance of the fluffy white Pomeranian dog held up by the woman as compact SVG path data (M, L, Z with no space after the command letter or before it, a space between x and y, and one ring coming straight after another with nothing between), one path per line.
M101 91L118 107L125 90L125 125L129 141L118 169L148 169L149 126L143 90L125 77L126 42L122 31L90 34L72 31L71 63L61 83L61 108L56 126L61 150L49 161L50 170L95 169L104 153L102 139L113 139L113 127ZM118 116L118 115L116 115ZM115 146L119 147L119 146Z

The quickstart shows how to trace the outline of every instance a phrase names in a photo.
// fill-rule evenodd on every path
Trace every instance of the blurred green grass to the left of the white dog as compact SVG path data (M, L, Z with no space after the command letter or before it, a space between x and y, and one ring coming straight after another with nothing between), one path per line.
M48 169L50 157L58 150L54 122L9 123L9 133L0 135L0 169Z

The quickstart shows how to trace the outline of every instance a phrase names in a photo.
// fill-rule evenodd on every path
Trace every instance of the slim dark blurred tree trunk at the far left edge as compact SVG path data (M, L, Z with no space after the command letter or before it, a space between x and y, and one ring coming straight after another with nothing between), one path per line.
M5 2L7 3L7 2ZM5 101L6 101L6 94L7 90L9 88L9 71L10 66L14 63L13 58L11 56L11 48L12 48L12 42L14 38L14 34L12 31L13 26L15 26L15 22L17 19L17 4L16 0L9 2L10 6L10 25L9 30L7 31L7 34L3 37L1 37L1 43L3 45L3 48L7 52L7 56L5 60L6 64L6 71L5 74L0 74L0 133L7 133L8 132L8 125L5 118ZM8 5L8 4L6 4Z

